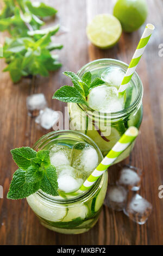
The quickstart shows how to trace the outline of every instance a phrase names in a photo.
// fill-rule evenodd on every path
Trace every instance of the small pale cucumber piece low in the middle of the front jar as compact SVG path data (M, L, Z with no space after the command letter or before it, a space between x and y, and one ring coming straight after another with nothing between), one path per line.
M69 222L76 218L84 220L89 214L89 209L85 204L77 205L76 207L68 208L67 215L62 219L63 222Z

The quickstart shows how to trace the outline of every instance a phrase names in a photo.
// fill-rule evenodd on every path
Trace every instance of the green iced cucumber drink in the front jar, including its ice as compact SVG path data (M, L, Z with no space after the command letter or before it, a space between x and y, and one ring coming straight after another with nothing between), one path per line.
M108 173L104 172L95 185L82 194L77 191L97 165L102 154L89 137L76 131L51 132L39 139L34 150L50 150L51 164L58 175L59 196L39 190L27 197L27 202L45 227L64 234L83 233L98 220Z

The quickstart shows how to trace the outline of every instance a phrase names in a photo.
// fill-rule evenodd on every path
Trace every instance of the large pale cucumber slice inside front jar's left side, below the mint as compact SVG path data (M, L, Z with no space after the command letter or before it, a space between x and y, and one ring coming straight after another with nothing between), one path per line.
M36 215L48 221L62 221L68 213L68 208L66 208L65 206L58 204L55 205L55 208L52 208L49 204L45 204L45 202L42 203L33 194L27 197L27 202Z

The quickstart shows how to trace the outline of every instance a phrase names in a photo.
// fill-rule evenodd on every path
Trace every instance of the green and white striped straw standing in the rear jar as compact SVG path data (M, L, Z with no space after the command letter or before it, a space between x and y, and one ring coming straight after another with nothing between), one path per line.
M131 77L133 76L133 74L135 72L136 66L139 63L139 60L140 60L143 52L145 51L145 48L147 46L147 43L148 43L149 38L151 37L153 31L154 31L154 26L152 24L147 24L145 31L143 32L142 37L139 41L139 45L136 48L134 56L131 59L129 67L128 67L126 74L123 78L121 86L118 89L118 93L122 93L128 87L128 82L131 80Z

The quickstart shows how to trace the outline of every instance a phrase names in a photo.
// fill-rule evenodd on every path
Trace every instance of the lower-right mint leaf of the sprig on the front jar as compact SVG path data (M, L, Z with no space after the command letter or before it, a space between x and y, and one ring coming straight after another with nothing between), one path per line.
M52 165L48 166L41 180L41 190L52 196L59 196L56 168Z

